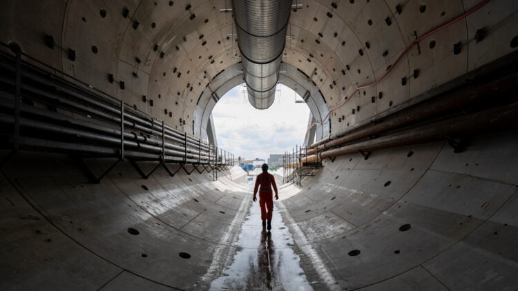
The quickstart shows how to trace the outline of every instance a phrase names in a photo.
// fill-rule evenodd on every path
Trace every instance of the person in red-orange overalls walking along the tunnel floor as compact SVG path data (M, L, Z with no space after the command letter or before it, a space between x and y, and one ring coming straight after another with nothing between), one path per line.
M257 201L257 189L259 185L261 185L259 190L259 205L261 207L262 227L266 227L266 220L268 220L268 230L271 230L271 214L274 212L274 199L271 197L271 186L274 186L276 200L279 199L279 195L274 175L268 174L268 165L263 163L261 169L262 174L258 174L256 186L253 188L253 201ZM266 211L267 208L268 212Z

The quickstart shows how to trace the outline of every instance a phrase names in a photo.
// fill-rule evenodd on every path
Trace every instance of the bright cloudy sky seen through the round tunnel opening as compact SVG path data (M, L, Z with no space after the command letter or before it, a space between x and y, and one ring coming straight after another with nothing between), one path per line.
M224 94L212 114L218 147L236 159L268 159L303 143L309 108L290 88L278 84L274 104L266 110L253 108L246 88L237 86Z

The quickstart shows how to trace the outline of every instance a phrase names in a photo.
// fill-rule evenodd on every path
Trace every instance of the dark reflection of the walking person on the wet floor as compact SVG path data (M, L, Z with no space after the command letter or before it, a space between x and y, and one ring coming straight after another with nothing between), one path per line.
M265 282L270 290L272 288L272 278L275 278L275 265L274 241L271 239L271 232L263 229L261 232L261 243L258 248L258 267L261 281ZM274 283L274 285L276 284Z

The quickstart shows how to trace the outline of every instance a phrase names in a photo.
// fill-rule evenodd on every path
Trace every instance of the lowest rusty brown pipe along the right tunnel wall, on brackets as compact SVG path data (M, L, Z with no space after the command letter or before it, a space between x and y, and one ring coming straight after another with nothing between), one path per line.
M405 130L385 137L378 137L352 145L345 145L334 150L326 150L300 159L302 163L322 161L325 158L339 157L345 154L355 154L358 151L370 152L403 145L414 145L440 141L446 137L468 137L472 134L492 132L496 130L515 130L518 124L518 103L500 106L464 115L454 119L432 123L412 130Z

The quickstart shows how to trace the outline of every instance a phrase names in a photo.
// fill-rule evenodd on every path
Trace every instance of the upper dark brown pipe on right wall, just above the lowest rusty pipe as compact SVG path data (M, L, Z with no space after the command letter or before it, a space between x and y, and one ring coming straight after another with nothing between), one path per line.
M513 88L516 88L517 84L518 74L512 74L497 81L483 84L477 88L461 90L461 92L452 92L441 98L423 102L418 106L405 110L405 112L392 119L381 121L381 123L358 130L357 132L352 132L347 134L345 137L327 141L322 145L318 145L318 148L307 150L307 154L314 154L317 151L334 148L338 145L343 145L344 143L358 141L360 139L365 139L366 137L372 137L376 134L382 134L383 132L389 132L390 130L410 126L411 124L448 112L448 110L453 110L466 104L480 101L487 96L501 96L506 94L506 92L510 92Z

